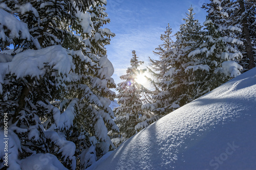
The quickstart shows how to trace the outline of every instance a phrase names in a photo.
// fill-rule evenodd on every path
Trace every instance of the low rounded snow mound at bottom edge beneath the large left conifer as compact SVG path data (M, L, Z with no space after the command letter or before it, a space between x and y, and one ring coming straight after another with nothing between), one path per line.
M35 154L21 160L20 167L22 170L66 170L67 168L63 166L58 158L52 154ZM68 170L68 169L67 169Z

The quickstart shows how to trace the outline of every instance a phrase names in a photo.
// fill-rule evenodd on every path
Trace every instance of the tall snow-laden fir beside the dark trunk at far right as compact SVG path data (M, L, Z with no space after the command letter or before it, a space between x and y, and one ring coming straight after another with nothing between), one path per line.
M236 37L241 29L230 25L228 13L224 11L228 3L228 0L211 0L203 5L208 12L204 22L205 32L198 48L188 54L188 57L199 59L199 64L204 66L200 68L205 70L205 74L201 75L201 94L241 74L242 66L238 61L242 54L237 46L243 42Z

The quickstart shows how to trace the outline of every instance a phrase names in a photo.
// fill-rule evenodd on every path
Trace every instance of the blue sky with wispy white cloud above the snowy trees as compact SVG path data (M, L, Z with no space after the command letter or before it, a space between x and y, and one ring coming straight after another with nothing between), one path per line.
M209 1L108 0L106 12L111 23L106 25L106 28L116 36L106 48L108 58L115 68L112 77L116 84L121 82L119 77L130 67L133 50L139 59L145 62L141 68L147 66L148 56L157 58L152 51L162 43L160 36L166 30L167 24L170 24L173 33L179 31L179 26L184 23L182 18L186 17L185 13L191 5L196 13L195 18L202 24L206 16L206 11L201 8L204 3Z

